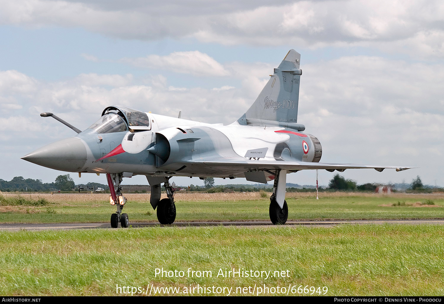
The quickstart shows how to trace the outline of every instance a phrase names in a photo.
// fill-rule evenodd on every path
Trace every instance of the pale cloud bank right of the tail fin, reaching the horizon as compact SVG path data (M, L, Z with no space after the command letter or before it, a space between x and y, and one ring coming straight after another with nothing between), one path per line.
M443 184L441 64L347 56L302 67L298 122L319 138L321 162L418 166L406 173L347 170L369 182Z

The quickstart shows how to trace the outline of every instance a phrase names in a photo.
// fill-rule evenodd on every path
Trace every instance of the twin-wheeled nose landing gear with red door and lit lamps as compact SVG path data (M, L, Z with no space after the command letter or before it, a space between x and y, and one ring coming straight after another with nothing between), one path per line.
M120 183L122 182L123 174L107 174L108 186L110 187L110 203L117 206L117 211L111 214L111 227L117 228L120 225L122 228L129 226L128 214L122 213L123 205L127 202L126 197L123 196L120 190Z

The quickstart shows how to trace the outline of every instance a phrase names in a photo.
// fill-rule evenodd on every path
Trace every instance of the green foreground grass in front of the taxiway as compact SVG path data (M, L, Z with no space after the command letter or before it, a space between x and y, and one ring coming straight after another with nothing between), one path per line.
M327 287L327 296L441 296L439 225L0 232L0 295L108 295L119 286ZM155 268L185 276L155 276ZM187 277L188 268L212 271ZM217 277L219 268L289 277ZM290 293L291 294L291 293Z

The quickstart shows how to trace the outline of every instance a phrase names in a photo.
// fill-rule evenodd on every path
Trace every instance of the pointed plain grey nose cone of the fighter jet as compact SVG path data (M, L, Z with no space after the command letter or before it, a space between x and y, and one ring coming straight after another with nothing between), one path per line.
M76 137L70 137L50 143L22 159L40 166L69 172L79 172L86 163L86 147Z

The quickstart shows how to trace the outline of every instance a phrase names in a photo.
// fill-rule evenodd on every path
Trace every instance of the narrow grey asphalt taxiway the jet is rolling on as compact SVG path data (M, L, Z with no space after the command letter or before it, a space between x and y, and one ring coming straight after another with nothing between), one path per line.
M288 221L283 226L321 226L332 227L341 224L369 225L369 224L407 224L407 225L444 225L444 219L432 220L357 220L357 221ZM142 227L209 227L209 226L274 226L270 221L225 221L225 222L177 222L172 225L159 223L130 223L132 228ZM0 230L71 230L71 229L111 229L110 223L51 223L51 224L0 224ZM119 229L121 229L119 227Z

